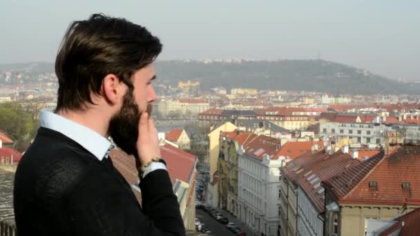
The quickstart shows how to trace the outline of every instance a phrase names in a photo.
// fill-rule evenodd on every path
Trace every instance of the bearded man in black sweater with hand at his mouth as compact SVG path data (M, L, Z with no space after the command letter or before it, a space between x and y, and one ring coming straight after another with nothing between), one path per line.
M161 50L157 37L125 19L93 14L70 25L55 62L57 109L41 112L15 175L19 236L185 235L148 119ZM108 157L110 136L136 158L142 207Z

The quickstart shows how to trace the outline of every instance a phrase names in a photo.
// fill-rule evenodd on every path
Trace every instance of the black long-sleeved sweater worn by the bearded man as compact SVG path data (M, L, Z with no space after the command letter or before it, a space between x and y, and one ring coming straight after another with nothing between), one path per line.
M19 236L185 235L177 197L166 170L140 183L142 208L113 167L72 139L39 128L15 175Z

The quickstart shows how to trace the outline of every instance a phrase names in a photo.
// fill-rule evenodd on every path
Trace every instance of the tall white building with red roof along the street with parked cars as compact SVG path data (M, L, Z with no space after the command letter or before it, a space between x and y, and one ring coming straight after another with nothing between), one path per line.
M254 233L278 235L280 139L260 135L238 150L238 218Z

